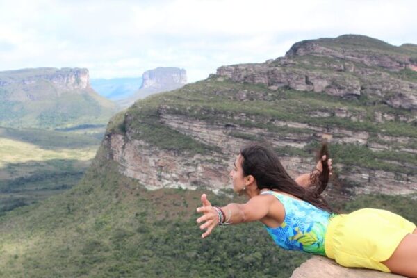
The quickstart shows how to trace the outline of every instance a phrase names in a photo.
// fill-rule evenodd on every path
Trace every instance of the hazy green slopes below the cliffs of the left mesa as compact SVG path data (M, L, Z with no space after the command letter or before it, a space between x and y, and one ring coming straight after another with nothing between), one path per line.
M15 74L13 79L18 79L19 74ZM7 76L0 73L1 80ZM46 79L31 85L14 82L4 86L0 91L0 126L51 129L106 124L116 112L113 102L90 88L68 90Z

